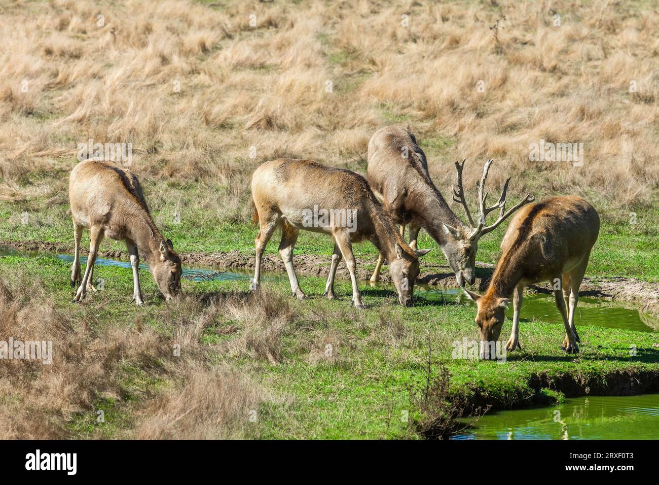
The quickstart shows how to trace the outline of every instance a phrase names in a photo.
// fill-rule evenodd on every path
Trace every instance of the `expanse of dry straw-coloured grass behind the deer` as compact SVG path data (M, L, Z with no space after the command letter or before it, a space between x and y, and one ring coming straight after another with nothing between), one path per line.
M57 168L92 138L132 143L142 178L229 187L210 208L246 220L257 164L297 156L362 170L370 135L392 122L428 141L444 189L463 157L470 186L491 157L493 189L513 174L517 193L587 194L613 208L646 205L658 187L652 7L52 0L0 10L5 200L64 204ZM540 139L585 143L585 166L530 162ZM51 179L24 183L34 172Z

